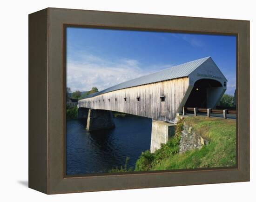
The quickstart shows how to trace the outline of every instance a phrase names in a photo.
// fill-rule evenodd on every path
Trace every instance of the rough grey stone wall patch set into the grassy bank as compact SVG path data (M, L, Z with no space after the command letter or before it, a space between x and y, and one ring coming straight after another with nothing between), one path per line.
M191 126L187 126L184 122L179 145L179 154L192 149L201 149L202 146L208 145L209 141L197 135Z

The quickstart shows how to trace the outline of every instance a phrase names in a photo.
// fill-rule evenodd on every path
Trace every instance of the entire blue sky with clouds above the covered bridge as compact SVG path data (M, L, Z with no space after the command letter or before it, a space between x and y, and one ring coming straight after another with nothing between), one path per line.
M99 90L184 62L211 56L236 89L236 37L67 28L67 87Z

